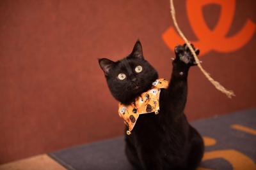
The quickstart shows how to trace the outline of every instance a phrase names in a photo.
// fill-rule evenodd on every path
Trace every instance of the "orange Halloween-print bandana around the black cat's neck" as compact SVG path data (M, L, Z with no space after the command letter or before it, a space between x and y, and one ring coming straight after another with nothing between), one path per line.
M157 79L152 83L152 87L147 92L143 92L140 96L136 97L133 103L124 105L119 103L118 113L119 116L124 118L124 122L129 126L129 135L136 124L137 119L141 114L159 112L159 95L161 89L168 87L168 81L164 78Z

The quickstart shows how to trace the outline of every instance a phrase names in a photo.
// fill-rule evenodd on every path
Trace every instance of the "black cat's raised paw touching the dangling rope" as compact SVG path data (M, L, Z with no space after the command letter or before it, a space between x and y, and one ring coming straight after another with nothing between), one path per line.
M193 50L195 50L196 55L199 55L200 50L196 49L193 44L191 44ZM193 54L189 50L188 46L186 43L184 45L178 45L175 46L174 52L176 55L176 58L174 61L181 61L187 64L188 66L196 66L195 59L193 57Z

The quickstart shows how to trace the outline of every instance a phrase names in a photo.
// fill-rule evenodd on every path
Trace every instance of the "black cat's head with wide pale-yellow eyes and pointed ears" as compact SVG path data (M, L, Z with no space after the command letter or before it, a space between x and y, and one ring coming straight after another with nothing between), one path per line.
M99 59L104 71L109 90L116 100L130 104L135 97L147 91L158 78L157 71L143 57L140 41L127 57L116 62L103 58Z

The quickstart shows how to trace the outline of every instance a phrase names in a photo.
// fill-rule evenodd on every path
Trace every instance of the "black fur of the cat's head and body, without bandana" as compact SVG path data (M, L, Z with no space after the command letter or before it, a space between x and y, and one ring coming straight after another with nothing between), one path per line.
M125 134L125 153L136 169L195 169L204 154L202 137L184 115L188 71L195 59L186 45L176 46L175 55L169 86L161 90L159 114L140 115L131 135ZM130 104L158 78L157 71L143 57L140 41L124 59L99 59L99 64L111 94L123 104ZM139 65L143 70L136 73L134 69ZM119 73L126 78L119 80Z

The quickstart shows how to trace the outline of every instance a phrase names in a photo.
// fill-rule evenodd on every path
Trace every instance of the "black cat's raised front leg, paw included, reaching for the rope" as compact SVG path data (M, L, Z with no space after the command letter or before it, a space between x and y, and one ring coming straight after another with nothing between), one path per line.
M199 54L198 49L195 52L196 55ZM168 89L163 90L161 104L163 110L173 113L170 115L177 115L183 113L186 105L189 68L196 66L195 59L186 44L175 46L175 59L172 64L172 77Z

